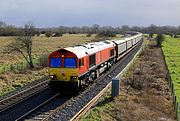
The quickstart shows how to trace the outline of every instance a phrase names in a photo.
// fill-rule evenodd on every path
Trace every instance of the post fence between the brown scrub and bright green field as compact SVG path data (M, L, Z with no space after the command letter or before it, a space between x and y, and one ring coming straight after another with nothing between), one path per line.
M161 48L161 52L162 52L163 58L165 60L165 56L164 56L164 52L163 52L162 48ZM180 102L178 102L178 100L177 100L177 98L179 98L179 96L176 95L176 91L174 89L174 81L171 78L166 61L165 61L165 66L166 66L165 68L167 70L166 78L169 81L169 86L171 88L171 95L173 98L174 111L176 112L177 120L180 121Z

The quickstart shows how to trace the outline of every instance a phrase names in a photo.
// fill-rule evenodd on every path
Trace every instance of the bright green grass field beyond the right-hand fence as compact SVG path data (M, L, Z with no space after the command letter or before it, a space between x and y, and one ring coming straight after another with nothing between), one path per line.
M174 81L177 101L180 102L180 38L166 36L162 49L171 78Z

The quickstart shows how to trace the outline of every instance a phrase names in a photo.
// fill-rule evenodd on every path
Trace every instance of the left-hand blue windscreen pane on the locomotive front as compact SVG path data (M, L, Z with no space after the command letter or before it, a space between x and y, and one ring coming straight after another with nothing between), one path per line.
M50 67L52 67L52 68L62 67L62 59L61 58L51 58L50 59Z

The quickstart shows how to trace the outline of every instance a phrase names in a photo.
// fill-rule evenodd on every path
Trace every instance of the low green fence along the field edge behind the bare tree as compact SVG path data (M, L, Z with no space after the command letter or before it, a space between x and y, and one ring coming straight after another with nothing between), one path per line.
M48 55L42 55L40 57L33 58L34 65L46 67L47 62L48 62ZM4 64L4 65L0 65L0 74L14 70L23 70L27 68L29 68L29 64L25 60L23 60L20 63Z

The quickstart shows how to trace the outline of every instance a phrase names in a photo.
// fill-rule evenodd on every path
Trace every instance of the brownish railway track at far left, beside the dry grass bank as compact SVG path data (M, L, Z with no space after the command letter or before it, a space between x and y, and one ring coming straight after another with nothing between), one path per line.
M39 83L33 83L23 88L22 90L18 90L16 93L11 94L9 96L1 97L0 100L0 113L7 110L8 108L26 100L27 98L45 90L48 88L49 79L47 77L40 80Z

